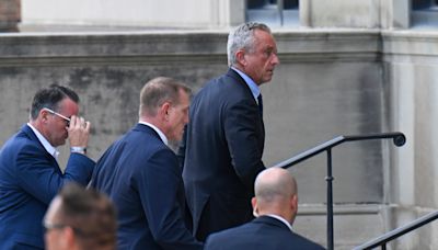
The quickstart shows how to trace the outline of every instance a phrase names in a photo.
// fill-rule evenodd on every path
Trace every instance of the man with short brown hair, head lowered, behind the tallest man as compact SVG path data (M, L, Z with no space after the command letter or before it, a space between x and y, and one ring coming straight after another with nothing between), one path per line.
M118 212L118 249L200 250L185 225L185 195L177 158L168 140L181 139L191 89L159 77L140 92L139 123L97 161L91 186Z

